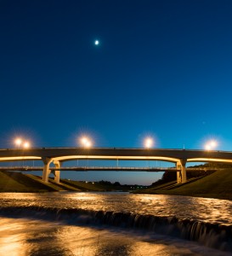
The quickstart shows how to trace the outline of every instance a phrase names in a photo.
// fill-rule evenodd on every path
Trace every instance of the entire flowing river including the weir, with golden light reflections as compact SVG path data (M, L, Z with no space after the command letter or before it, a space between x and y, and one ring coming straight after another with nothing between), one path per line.
M0 255L232 255L232 201L0 194Z

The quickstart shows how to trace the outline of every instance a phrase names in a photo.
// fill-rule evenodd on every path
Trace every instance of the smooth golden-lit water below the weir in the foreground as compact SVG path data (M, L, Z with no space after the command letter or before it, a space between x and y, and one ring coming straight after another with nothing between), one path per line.
M229 255L194 242L25 218L0 218L0 255Z

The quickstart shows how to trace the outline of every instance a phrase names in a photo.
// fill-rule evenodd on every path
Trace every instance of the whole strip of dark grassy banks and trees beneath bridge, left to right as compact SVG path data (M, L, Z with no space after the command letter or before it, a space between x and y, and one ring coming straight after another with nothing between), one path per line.
M188 175L189 173L189 175ZM175 174L175 175L173 175ZM173 177L172 177L173 176ZM188 177L189 176L189 177ZM129 191L134 194L189 195L232 200L232 167L217 172L187 172L188 182L177 184L176 172L164 173L161 180L150 186L121 185L107 181L85 182L60 179L60 183L43 183L42 178L21 172L0 172L0 192L52 192L52 191Z

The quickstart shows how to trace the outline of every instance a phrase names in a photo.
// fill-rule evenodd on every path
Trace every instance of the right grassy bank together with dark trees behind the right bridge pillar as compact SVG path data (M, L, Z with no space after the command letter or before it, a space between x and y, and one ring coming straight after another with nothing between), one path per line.
M207 163L201 166L210 172L187 171L187 183L177 184L176 173L164 173L161 180L152 183L149 189L137 190L136 194L150 195L188 195L232 201L232 165L224 163ZM219 171L216 169L221 168Z

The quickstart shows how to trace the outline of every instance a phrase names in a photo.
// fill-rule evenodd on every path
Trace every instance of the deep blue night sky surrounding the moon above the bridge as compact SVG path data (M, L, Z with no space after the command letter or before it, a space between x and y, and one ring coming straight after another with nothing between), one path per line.
M1 0L0 24L0 148L232 150L230 0Z

